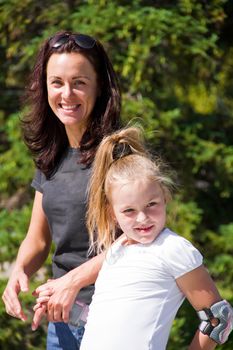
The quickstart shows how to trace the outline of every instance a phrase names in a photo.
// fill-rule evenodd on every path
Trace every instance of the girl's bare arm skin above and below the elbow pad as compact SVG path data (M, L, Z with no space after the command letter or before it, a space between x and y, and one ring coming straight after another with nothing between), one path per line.
M204 266L200 266L179 277L176 283L197 311L203 308L210 308L213 304L222 299ZM198 330L188 349L213 350L216 345L217 344L211 338Z

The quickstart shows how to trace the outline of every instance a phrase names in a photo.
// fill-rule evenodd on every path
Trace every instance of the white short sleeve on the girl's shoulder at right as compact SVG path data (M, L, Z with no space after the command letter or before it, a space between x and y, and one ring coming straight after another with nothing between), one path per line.
M181 236L173 236L164 250L163 259L168 273L175 279L203 263L203 256L191 242Z

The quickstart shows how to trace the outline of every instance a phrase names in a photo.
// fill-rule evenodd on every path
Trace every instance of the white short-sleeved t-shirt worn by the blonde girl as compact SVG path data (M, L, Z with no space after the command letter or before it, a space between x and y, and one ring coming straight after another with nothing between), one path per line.
M96 281L80 349L166 349L184 300L175 280L201 264L199 251L169 229L151 244L116 242Z

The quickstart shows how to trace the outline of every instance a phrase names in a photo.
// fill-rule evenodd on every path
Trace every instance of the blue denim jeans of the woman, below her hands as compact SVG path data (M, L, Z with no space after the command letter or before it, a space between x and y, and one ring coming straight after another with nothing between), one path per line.
M74 327L63 322L49 323L47 350L79 350L84 327Z

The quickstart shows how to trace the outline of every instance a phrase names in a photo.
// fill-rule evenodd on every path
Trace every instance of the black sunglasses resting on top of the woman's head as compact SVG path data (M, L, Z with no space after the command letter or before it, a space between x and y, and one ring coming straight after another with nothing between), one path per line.
M53 42L54 39L54 42ZM92 38L89 35L86 34L64 34L61 35L57 38L57 40L55 38L52 38L52 47L54 49L58 49L60 46L68 43L69 40L73 40L75 42L75 44L77 44L81 49L92 49L95 44L96 41L94 38Z

